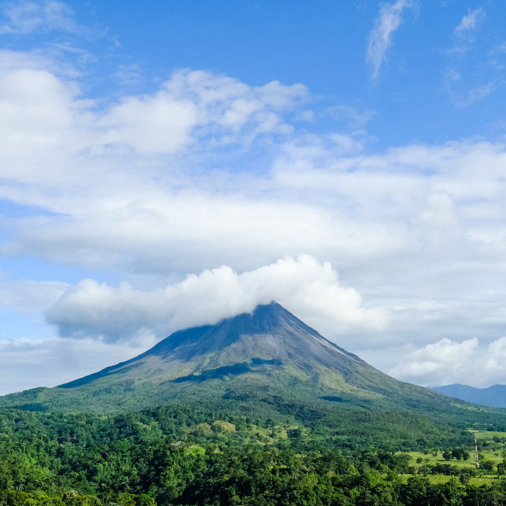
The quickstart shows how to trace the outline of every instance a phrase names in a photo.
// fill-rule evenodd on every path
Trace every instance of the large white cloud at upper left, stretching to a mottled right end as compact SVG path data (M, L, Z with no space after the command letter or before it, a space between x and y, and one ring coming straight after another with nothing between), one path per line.
M303 85L272 81L250 87L219 74L179 70L153 94L99 107L82 98L75 80L58 75L42 58L18 56L0 54L2 176L31 182L38 177L45 186L82 185L101 163L107 163L106 172L116 165L124 174L120 157L132 153L159 157L190 145L205 152L287 134L292 127L284 116L309 100ZM106 160L111 156L116 159ZM83 164L86 168L73 170Z

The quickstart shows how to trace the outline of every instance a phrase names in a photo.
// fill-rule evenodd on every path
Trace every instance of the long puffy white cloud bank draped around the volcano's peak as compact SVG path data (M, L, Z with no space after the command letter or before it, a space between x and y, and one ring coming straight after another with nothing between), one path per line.
M364 307L354 288L341 286L328 262L301 255L241 274L227 266L205 270L151 291L86 279L63 294L47 321L65 338L148 343L273 300L330 338L382 329L388 319L385 310Z

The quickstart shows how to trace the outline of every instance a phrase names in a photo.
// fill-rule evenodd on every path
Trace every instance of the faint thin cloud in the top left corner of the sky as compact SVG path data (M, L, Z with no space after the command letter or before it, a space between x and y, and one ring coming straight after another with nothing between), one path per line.
M34 31L81 31L74 20L72 9L62 2L25 1L3 4L4 23L0 25L0 35L6 33L27 34Z

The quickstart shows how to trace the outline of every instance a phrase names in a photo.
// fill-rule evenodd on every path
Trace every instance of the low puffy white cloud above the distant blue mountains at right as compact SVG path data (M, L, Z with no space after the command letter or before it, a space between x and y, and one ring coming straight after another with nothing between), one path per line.
M424 386L462 383L487 387L506 381L506 338L481 345L476 338L442 339L408 352L389 374Z

